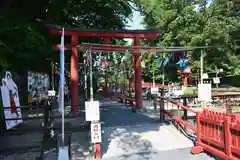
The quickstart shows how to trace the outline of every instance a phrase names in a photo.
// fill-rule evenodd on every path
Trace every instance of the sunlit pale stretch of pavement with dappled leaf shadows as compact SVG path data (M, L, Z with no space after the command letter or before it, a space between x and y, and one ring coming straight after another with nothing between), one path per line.
M103 159L142 152L157 153L193 146L189 139L171 125L149 124L115 129L106 127L103 130L103 139L108 139L107 144L103 144L103 147L108 148Z

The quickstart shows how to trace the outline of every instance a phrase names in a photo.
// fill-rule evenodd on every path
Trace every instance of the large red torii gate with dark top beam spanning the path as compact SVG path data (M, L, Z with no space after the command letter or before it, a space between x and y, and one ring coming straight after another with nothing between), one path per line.
M62 27L58 25L47 25L49 32L53 35L62 35ZM141 51L155 51L155 52L176 52L187 51L195 48L184 47L143 47L141 46L141 39L157 39L159 36L159 29L147 30L100 30L100 29L77 29L65 28L64 35L71 37L71 44L65 44L65 50L71 50L71 106L72 111L77 112L78 106L78 50L87 49L91 46L93 52L133 52L134 69L135 69L135 101L136 109L142 108L142 75L141 75ZM103 38L104 44L79 44L80 37ZM129 38L133 39L133 46L117 46L110 45L112 38ZM53 48L60 50L60 44L53 45ZM198 47L201 48L201 47Z

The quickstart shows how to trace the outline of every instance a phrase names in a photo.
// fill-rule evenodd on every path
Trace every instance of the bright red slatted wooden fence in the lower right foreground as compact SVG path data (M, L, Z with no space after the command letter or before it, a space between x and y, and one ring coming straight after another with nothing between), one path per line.
M193 154L207 151L227 160L240 159L240 121L236 115L205 109L196 116L196 146Z

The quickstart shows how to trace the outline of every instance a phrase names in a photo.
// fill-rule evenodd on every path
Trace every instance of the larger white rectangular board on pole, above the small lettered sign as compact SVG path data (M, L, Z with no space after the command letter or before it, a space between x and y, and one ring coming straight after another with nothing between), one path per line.
M99 101L85 102L85 119L86 121L99 121Z

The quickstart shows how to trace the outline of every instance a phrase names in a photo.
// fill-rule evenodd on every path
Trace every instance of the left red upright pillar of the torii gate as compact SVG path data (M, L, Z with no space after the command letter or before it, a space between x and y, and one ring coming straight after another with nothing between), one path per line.
M78 37L72 36L72 56L71 56L71 102L72 111L78 110L78 51L75 47L78 44Z

